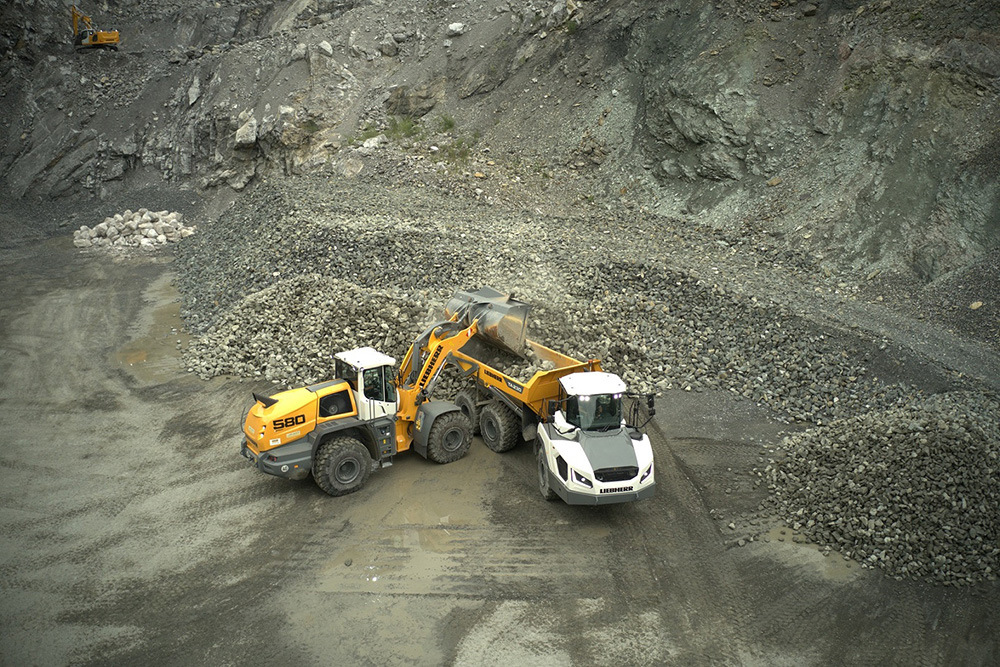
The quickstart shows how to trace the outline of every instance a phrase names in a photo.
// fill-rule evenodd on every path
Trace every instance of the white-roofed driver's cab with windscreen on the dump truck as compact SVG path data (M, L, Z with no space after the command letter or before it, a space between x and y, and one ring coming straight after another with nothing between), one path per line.
M563 409L556 423L582 431L611 431L622 425L625 383L600 371L573 373L559 380ZM560 429L562 430L562 429Z

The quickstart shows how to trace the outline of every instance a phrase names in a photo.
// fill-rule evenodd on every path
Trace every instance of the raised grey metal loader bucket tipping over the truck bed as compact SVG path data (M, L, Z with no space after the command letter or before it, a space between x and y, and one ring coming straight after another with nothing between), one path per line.
M524 337L531 306L512 299L492 287L457 291L445 304L445 317L458 315L465 326L479 321L477 335L519 357L524 356Z

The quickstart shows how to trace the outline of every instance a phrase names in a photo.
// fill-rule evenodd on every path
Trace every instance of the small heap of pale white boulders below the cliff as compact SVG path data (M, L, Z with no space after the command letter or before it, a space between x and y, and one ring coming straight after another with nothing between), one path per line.
M77 248L156 248L194 234L194 227L185 225L182 220L183 215L176 211L126 210L105 218L94 227L80 227L73 232L73 245Z

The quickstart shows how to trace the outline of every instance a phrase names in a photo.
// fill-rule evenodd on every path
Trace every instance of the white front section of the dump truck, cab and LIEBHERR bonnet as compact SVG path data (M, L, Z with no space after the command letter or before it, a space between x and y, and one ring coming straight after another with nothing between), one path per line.
M613 373L559 379L560 398L535 439L542 495L571 505L605 505L653 495L649 437L626 422L625 383Z

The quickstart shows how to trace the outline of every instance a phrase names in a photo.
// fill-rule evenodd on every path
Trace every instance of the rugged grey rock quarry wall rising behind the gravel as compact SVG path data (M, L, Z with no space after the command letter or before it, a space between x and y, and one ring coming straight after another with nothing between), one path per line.
M456 159L488 148L498 169L564 172L608 204L783 235L863 275L934 280L1000 245L995 2L82 9L122 32L120 51L74 53L61 2L2 10L9 197L363 178L377 167L354 149L409 136L393 134L402 124L434 128ZM414 157L433 142L403 143Z

